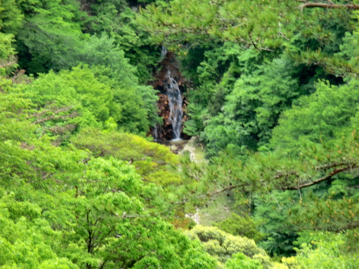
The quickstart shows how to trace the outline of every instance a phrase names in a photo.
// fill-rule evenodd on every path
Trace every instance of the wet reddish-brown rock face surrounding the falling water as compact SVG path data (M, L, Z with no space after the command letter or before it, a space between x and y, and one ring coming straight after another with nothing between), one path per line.
M155 74L155 80L150 82L150 85L153 86L156 90L159 91L159 100L157 102L157 106L160 110L159 116L163 118L163 124L161 126L157 126L156 130L155 127L153 127L150 132L153 137L155 137L157 140L171 140L175 137L176 134L173 132L173 112L171 114L170 111L170 100L168 98L168 84L169 84L169 73L171 74L171 79L176 81L176 87L178 87L179 91L181 93L184 92L185 89L185 79L182 76L182 74L179 72L179 65L178 62L175 60L175 55L171 52L167 52L164 55L163 60L158 65L159 71L157 74ZM183 139L188 139L189 136L184 134L183 131L183 122L188 119L188 116L186 115L186 106L187 106L187 100L182 94L182 111L183 114L180 117L179 121L181 121L181 128L180 130L177 130L177 133L181 133L180 137Z

